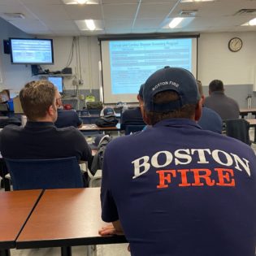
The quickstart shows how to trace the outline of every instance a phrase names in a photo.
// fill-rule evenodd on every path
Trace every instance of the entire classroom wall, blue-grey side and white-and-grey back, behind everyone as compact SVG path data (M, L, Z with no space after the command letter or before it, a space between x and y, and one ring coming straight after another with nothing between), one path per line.
M2 39L8 37L28 37L6 21L0 19ZM232 37L241 37L242 49L237 53L228 50L228 41ZM50 37L54 39L54 65L42 66L50 71L61 71L67 66L72 51L73 37ZM202 80L204 92L208 94L210 80L220 79L226 87L226 93L236 98L241 107L247 106L246 98L252 95L252 105L256 106L256 93L253 92L254 73L256 72L256 33L201 33L198 38L198 63L197 78ZM2 47L1 47L2 48ZM13 91L19 90L24 82L38 77L31 77L30 66L11 65L10 55L3 54L2 84L0 87L9 87ZM80 58L79 58L80 57ZM98 89L101 83L98 62L100 60L100 46L97 37L77 37L73 58L69 65L72 67L73 76L65 77L65 89L71 95L77 95L80 106L84 100L80 96L93 93L99 97ZM0 63L1 64L1 63ZM80 67L80 68L79 68ZM15 73L15 76L13 74ZM256 76L256 75L255 75ZM78 81L81 85L78 85ZM78 93L76 93L78 89Z

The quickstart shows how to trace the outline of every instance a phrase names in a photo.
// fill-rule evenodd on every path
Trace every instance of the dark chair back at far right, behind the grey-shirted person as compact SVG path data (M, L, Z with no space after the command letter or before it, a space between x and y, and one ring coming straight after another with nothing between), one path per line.
M245 119L226 119L226 135L250 145L249 123Z

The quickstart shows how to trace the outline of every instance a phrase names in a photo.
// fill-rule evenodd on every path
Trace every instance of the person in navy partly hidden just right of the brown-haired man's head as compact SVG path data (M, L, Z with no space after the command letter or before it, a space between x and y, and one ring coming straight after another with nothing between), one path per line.
M76 128L81 128L83 126L83 121L79 118L76 111L63 110L63 103L59 92L57 92L56 106L58 111L58 118L54 123L56 127L63 128L73 126Z

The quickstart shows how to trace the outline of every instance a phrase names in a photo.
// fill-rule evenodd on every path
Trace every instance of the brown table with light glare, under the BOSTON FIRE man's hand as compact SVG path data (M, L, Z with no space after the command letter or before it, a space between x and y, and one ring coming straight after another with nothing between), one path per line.
M100 189L49 189L16 241L16 248L97 245L126 242L124 236L99 236Z

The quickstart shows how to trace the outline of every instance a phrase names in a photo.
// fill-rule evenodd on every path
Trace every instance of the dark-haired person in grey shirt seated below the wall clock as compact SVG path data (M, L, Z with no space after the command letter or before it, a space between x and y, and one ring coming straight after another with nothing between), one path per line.
M216 111L221 119L238 119L240 115L238 103L224 93L222 80L212 80L209 84L209 96L206 97L205 106Z

